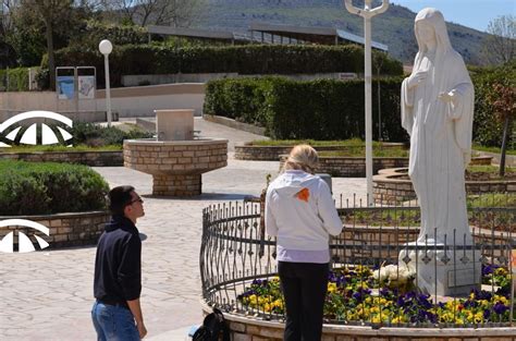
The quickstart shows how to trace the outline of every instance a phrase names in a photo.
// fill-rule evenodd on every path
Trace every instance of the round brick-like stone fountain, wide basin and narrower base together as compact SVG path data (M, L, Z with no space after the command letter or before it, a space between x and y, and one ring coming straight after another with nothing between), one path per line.
M153 195L199 195L201 174L228 166L228 139L126 139L124 166L151 174Z

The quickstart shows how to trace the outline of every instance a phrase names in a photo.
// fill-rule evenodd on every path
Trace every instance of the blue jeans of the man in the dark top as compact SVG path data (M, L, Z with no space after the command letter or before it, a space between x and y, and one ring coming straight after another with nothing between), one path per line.
M98 341L139 341L138 329L130 309L95 302L91 319Z

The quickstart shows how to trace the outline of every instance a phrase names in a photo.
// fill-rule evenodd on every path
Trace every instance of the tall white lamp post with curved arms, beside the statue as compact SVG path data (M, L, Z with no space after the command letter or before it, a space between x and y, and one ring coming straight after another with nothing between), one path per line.
M371 17L381 14L389 9L389 0L382 0L382 5L371 9L372 0L365 0L364 9L353 5L352 0L344 0L346 10L364 17L364 69L366 78L366 178L367 178L367 204L372 206L372 113L371 113Z

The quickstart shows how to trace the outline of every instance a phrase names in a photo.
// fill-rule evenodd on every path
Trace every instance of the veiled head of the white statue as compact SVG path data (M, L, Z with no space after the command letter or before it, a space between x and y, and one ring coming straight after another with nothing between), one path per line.
M435 41L438 51L451 48L446 23L443 14L435 9L426 8L416 15L414 31L419 50L425 50L427 44Z

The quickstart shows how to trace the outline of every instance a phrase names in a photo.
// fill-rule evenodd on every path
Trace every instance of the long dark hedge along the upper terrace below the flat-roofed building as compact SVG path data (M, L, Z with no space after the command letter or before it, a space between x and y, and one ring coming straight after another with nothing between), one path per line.
M381 73L401 75L402 63L374 51L382 60ZM364 70L364 49L358 46L194 46L175 48L167 45L114 46L110 54L113 86L121 85L125 74L174 73L239 73L239 74L295 74L355 72ZM103 86L103 58L97 48L70 47L56 51L56 64L93 65L97 81ZM48 68L44 59L42 68ZM373 65L373 70L376 66Z

